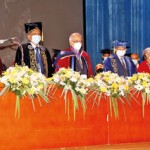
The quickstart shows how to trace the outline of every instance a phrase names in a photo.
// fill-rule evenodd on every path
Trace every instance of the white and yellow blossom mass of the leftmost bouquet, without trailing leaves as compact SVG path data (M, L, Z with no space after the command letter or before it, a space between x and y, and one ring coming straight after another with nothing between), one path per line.
M41 73L34 72L27 66L9 67L0 78L0 82L10 84L10 90L20 97L38 94L46 86L46 78ZM32 90L31 90L32 89Z

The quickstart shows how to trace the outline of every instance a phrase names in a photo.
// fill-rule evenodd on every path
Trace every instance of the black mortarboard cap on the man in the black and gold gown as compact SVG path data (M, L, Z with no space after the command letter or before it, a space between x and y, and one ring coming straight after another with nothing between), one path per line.
M33 29L38 28L42 32L42 22L25 23L25 32L29 33Z

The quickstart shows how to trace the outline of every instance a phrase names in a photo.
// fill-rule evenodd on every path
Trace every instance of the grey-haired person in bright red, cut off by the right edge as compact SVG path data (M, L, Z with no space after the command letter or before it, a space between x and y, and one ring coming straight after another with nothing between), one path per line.
M143 51L144 61L140 63L137 72L150 73L150 47Z

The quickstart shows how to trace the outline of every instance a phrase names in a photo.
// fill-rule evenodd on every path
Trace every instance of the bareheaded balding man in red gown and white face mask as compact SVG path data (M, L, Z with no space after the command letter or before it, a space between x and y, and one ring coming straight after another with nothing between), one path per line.
M89 55L82 48L82 35L72 33L69 37L70 48L61 51L55 61L55 71L60 68L71 68L87 77L92 76L92 65Z

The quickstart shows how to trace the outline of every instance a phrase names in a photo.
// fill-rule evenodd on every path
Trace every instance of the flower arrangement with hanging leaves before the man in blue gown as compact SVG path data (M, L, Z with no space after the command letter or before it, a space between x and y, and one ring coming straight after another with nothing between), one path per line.
M114 110L115 117L118 117L118 102L120 100L123 102L123 97L126 98L129 94L129 84L124 77L120 77L115 73L102 72L97 74L93 81L88 79L91 86L92 94L96 94L94 103L97 97L99 97L99 102L101 96L109 99L110 110L112 115L112 109Z

